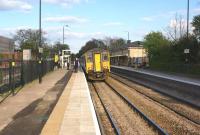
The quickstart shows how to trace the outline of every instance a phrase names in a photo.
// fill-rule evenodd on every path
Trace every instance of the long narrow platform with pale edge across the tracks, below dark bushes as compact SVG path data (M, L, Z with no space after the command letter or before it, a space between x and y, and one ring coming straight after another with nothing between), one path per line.
M198 78L173 75L173 74L169 74L169 73L163 73L163 72L159 72L159 71L152 71L152 70L145 70L145 69L134 69L132 67L125 67L125 66L111 66L111 67L131 70L131 71L138 72L138 73L148 74L151 76L166 78L166 79L170 79L170 80L174 80L174 81L179 81L179 82L183 82L183 83L200 86L200 79L198 79Z

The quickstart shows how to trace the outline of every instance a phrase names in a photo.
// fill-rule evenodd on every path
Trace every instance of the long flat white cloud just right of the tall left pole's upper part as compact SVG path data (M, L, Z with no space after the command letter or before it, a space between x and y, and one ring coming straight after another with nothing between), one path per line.
M80 18L75 16L62 16L62 17L47 17L43 21L59 22L59 23L85 23L88 20L85 18Z

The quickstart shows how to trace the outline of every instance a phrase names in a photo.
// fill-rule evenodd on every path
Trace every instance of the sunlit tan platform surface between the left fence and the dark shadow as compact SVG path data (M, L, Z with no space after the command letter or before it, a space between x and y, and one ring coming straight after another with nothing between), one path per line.
M26 84L15 96L9 96L0 104L0 131L9 123L13 123L15 116L33 102L46 95L54 85L67 73L66 69L59 69L46 74L42 83L38 80Z

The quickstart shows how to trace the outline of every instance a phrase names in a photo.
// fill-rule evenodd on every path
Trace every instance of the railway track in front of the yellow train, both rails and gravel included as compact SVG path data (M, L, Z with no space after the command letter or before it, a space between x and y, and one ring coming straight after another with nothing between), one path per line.
M109 84L96 82L92 85L116 134L167 134Z

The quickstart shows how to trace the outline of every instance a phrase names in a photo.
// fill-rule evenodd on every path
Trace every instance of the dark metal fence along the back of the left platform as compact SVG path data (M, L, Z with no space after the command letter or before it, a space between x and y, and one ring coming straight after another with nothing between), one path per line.
M53 71L53 60L43 60L42 75ZM38 78L38 61L22 61L0 59L0 94L14 91L16 87L23 86Z

